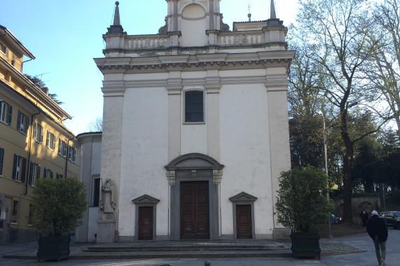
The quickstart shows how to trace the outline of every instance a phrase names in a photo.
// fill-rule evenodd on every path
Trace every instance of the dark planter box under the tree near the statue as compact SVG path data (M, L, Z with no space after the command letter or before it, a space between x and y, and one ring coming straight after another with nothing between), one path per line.
M69 256L69 235L39 237L39 249L36 253L40 260L64 260Z

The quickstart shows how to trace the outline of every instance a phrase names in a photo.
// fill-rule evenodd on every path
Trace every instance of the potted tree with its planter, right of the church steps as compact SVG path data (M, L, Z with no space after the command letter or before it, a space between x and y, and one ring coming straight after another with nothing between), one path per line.
M318 230L333 209L328 197L328 176L315 167L282 172L277 191L277 221L291 228L291 251L305 258L320 258ZM330 222L330 221L328 221Z

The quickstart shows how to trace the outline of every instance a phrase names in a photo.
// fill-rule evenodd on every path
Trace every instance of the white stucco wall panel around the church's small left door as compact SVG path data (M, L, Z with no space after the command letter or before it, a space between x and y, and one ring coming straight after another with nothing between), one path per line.
M124 94L118 230L135 235L133 199L147 194L157 204L157 235L168 234L168 99L165 87L127 88Z

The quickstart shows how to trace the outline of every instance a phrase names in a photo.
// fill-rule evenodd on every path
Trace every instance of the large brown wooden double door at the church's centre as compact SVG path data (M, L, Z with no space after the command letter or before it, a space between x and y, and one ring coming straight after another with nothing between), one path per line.
M209 183L181 182L181 239L209 239Z

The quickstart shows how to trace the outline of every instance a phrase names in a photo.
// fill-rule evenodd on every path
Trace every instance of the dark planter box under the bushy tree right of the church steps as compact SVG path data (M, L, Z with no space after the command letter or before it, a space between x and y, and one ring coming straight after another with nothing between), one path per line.
M321 258L319 235L310 232L291 232L291 252L295 258Z

